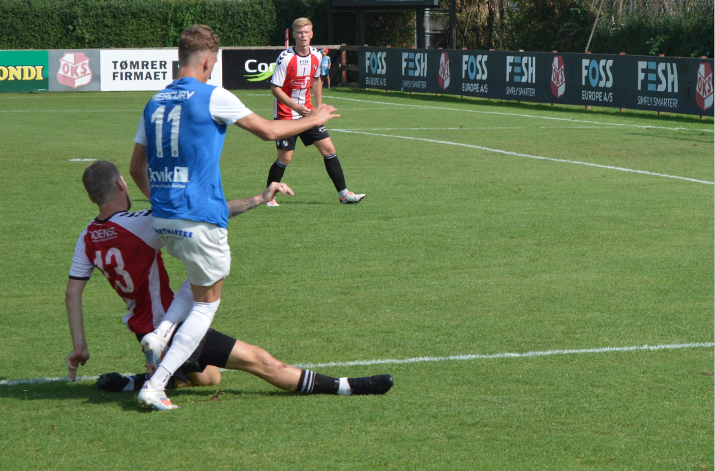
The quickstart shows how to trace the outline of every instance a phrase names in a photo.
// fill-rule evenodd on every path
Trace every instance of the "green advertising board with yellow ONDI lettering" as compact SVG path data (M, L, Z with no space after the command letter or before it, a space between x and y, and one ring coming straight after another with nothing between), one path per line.
M0 93L47 91L47 51L0 51Z

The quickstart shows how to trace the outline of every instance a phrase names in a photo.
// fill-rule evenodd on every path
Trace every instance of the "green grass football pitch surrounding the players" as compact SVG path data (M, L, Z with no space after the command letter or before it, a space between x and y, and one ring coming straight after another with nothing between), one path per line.
M267 92L236 93L271 115ZM348 187L368 197L338 204L300 146L295 197L229 224L217 329L292 364L713 342L712 184L448 144L713 182L712 119L326 95ZM7 385L66 375L67 271L96 216L87 162L69 159L128 177L149 96L0 96L1 469L713 470L711 347L316 368L390 373L383 397L225 372L170 392L181 409L165 413L92 380ZM274 144L229 129L226 197L260 192L274 160ZM177 288L184 269L165 259ZM80 375L141 371L123 306L95 273Z

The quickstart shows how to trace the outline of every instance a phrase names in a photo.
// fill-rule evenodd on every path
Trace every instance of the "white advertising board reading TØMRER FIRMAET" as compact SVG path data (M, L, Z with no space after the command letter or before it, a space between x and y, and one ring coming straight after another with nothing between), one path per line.
M102 91L162 90L175 77L178 49L102 49L100 74ZM208 83L222 86L222 51Z

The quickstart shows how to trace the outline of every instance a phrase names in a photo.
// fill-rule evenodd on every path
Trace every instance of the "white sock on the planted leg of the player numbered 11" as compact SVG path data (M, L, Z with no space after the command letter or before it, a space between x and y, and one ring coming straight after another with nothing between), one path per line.
M167 355L164 355L161 365L152 376L152 387L155 390L163 390L171 377L181 365L189 360L199 342L211 327L211 322L216 314L221 300L216 302L194 302L194 305L181 328L174 335L174 342L169 348Z

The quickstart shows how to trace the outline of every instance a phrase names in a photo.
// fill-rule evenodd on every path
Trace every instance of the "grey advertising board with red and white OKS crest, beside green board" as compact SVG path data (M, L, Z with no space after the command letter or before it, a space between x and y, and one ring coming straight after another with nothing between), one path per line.
M99 91L99 51L97 49L51 50L49 91Z

